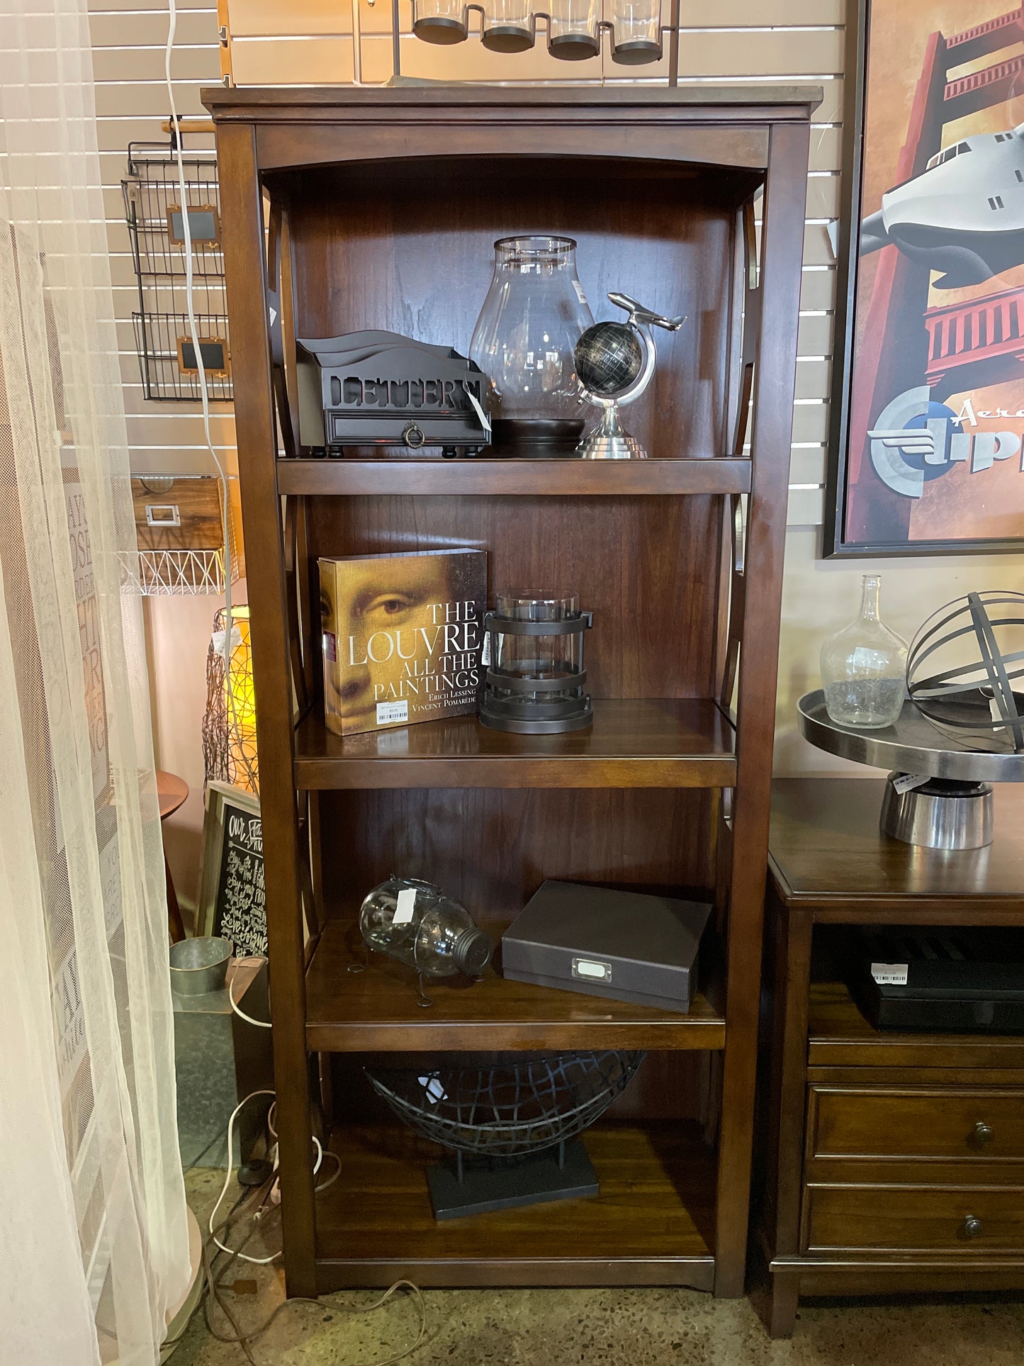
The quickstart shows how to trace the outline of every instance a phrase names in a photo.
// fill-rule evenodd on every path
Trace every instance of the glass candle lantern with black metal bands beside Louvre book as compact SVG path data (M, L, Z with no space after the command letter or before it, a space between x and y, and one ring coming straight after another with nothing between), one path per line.
M586 729L594 713L583 690L583 632L593 624L575 593L498 593L496 609L483 617L487 679L481 721L520 735Z

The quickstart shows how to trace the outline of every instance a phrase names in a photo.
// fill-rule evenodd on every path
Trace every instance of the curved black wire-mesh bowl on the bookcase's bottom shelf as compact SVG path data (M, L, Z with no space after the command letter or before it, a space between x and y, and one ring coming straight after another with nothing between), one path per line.
M644 1056L608 1050L498 1065L367 1067L366 1076L423 1138L478 1157L522 1157L588 1128Z

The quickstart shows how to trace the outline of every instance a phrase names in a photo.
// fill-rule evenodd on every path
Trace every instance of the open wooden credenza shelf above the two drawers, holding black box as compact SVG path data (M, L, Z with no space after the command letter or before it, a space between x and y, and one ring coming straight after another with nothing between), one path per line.
M1024 1068L1023 1035L877 1030L842 982L811 984L807 1030L808 1067Z

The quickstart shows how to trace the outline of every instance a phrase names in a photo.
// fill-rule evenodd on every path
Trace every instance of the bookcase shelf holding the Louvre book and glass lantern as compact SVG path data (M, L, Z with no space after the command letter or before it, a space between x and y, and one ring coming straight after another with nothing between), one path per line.
M295 784L410 787L732 787L733 732L706 698L594 701L594 725L508 735L456 716L341 738L310 713L295 734Z

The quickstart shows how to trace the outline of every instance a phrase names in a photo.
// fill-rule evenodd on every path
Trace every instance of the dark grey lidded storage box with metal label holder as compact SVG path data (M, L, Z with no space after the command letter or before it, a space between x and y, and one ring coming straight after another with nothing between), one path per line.
M547 880L501 938L513 982L687 1012L711 907Z

